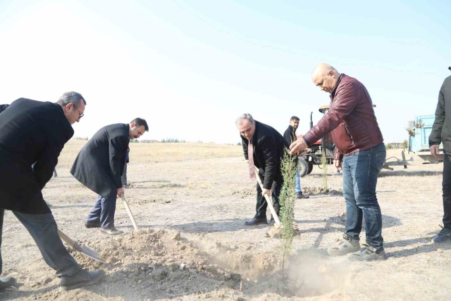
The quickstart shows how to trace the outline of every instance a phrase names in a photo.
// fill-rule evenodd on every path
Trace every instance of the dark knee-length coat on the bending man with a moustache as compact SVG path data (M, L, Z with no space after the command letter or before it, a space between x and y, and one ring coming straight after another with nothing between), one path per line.
M107 197L122 187L125 155L129 142L129 125L110 124L99 129L80 149L71 174L83 185Z

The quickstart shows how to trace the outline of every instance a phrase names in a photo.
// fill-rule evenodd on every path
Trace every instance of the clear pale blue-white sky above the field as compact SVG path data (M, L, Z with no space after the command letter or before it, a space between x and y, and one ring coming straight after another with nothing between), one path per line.
M80 92L76 136L146 118L143 139L236 143L251 113L298 134L328 94L320 62L368 89L385 141L433 114L451 72L446 1L5 1L0 0L0 103L56 101Z

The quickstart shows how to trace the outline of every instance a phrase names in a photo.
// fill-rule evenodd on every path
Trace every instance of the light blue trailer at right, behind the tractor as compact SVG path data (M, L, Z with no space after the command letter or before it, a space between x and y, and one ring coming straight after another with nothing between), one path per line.
M429 135L434 120L435 115L418 115L415 116L415 120L409 121L409 152L414 153L424 161L437 164L443 162L443 144L438 147L441 153L438 159L430 155Z

